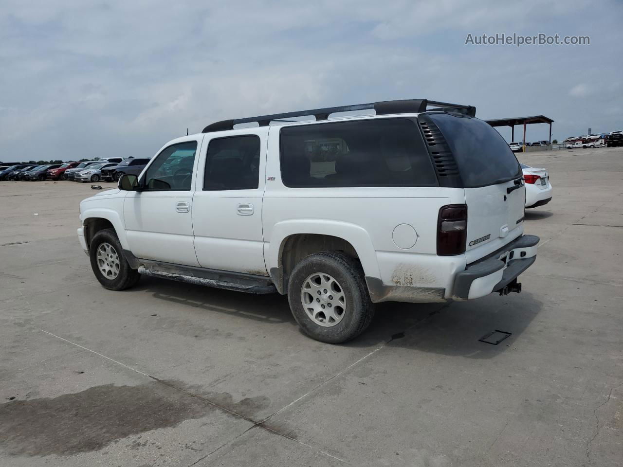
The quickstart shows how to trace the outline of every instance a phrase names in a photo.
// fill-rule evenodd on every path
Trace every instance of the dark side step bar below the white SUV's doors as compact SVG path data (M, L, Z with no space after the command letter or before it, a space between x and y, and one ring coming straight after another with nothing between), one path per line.
M247 293L277 292L269 276L142 260L128 250L123 255L131 268L146 276Z

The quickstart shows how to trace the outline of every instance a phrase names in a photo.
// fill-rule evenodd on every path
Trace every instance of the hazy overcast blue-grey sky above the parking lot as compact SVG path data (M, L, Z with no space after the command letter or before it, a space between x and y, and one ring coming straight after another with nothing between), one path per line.
M621 1L0 0L0 161L152 156L224 118L401 98L623 130L622 20ZM513 32L591 44L465 45Z

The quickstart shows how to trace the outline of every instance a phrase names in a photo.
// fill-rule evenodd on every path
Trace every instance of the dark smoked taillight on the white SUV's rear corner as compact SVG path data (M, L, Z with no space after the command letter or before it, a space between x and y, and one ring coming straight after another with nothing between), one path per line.
M437 255L465 253L467 205L449 204L439 209L437 219Z

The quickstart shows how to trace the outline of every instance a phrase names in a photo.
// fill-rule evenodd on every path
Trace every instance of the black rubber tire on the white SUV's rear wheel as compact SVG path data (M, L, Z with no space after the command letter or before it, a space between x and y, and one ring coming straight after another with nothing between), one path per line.
M332 281L315 276L325 276L325 279L328 277ZM314 279L310 279L314 277L320 280L318 290L309 288L312 283L318 284ZM327 284L330 284L328 288L323 288ZM328 293L323 293L324 290ZM312 292L320 292L318 296L313 295L312 301L308 303L310 305L308 309L313 307L310 313L316 317L315 319L308 314L303 304L303 300L312 297ZM343 307L337 301L341 298L345 300ZM374 304L370 300L361 265L354 258L340 252L314 253L303 258L290 275L288 303L303 333L316 341L328 344L340 344L354 339L368 328L374 316ZM334 305L331 306L330 303ZM324 311L317 308L318 306L323 308L331 306L324 308L330 314L323 316ZM342 308L341 314L335 311L339 308ZM331 315L335 316L337 321ZM334 324L330 324L331 319ZM318 324L317 321L323 321L324 324Z

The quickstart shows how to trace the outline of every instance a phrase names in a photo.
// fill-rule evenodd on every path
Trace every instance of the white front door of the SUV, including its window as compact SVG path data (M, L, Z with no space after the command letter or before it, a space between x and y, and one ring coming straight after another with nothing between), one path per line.
M138 258L199 266L193 245L193 174L203 135L162 149L123 204L126 238ZM186 139L186 138L184 138Z

